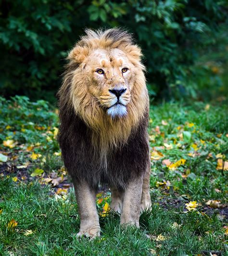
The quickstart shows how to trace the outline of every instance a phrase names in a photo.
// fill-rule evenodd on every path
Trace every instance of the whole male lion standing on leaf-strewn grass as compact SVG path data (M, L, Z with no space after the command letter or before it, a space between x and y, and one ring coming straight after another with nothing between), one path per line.
M86 30L69 52L58 92L58 141L71 175L79 236L100 235L96 191L108 184L120 223L139 227L150 207L149 99L141 51L126 31Z

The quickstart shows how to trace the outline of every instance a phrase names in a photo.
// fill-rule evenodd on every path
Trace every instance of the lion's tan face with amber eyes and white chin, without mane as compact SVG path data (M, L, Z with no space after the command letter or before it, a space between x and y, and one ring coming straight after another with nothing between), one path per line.
M135 66L119 50L95 50L87 58L84 75L88 91L99 106L114 117L127 115L131 100Z

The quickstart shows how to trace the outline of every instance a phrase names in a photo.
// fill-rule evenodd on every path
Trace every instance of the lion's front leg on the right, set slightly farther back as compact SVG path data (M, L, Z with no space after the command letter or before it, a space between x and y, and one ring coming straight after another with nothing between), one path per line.
M139 227L142 179L142 177L139 177L130 181L124 192L123 209L120 216L120 224L136 225L136 227Z

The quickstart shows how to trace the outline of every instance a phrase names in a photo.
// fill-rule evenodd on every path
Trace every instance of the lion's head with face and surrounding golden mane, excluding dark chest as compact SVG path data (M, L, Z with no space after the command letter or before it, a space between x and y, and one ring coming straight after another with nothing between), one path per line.
M119 28L87 29L69 52L60 107L73 106L103 148L126 142L147 111L141 55L131 35Z

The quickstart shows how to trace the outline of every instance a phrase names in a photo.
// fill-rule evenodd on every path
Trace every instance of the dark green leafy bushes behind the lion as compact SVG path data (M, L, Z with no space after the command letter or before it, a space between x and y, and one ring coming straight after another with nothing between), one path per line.
M55 102L64 58L84 28L114 26L142 47L151 99L227 92L227 0L2 0L1 94Z

